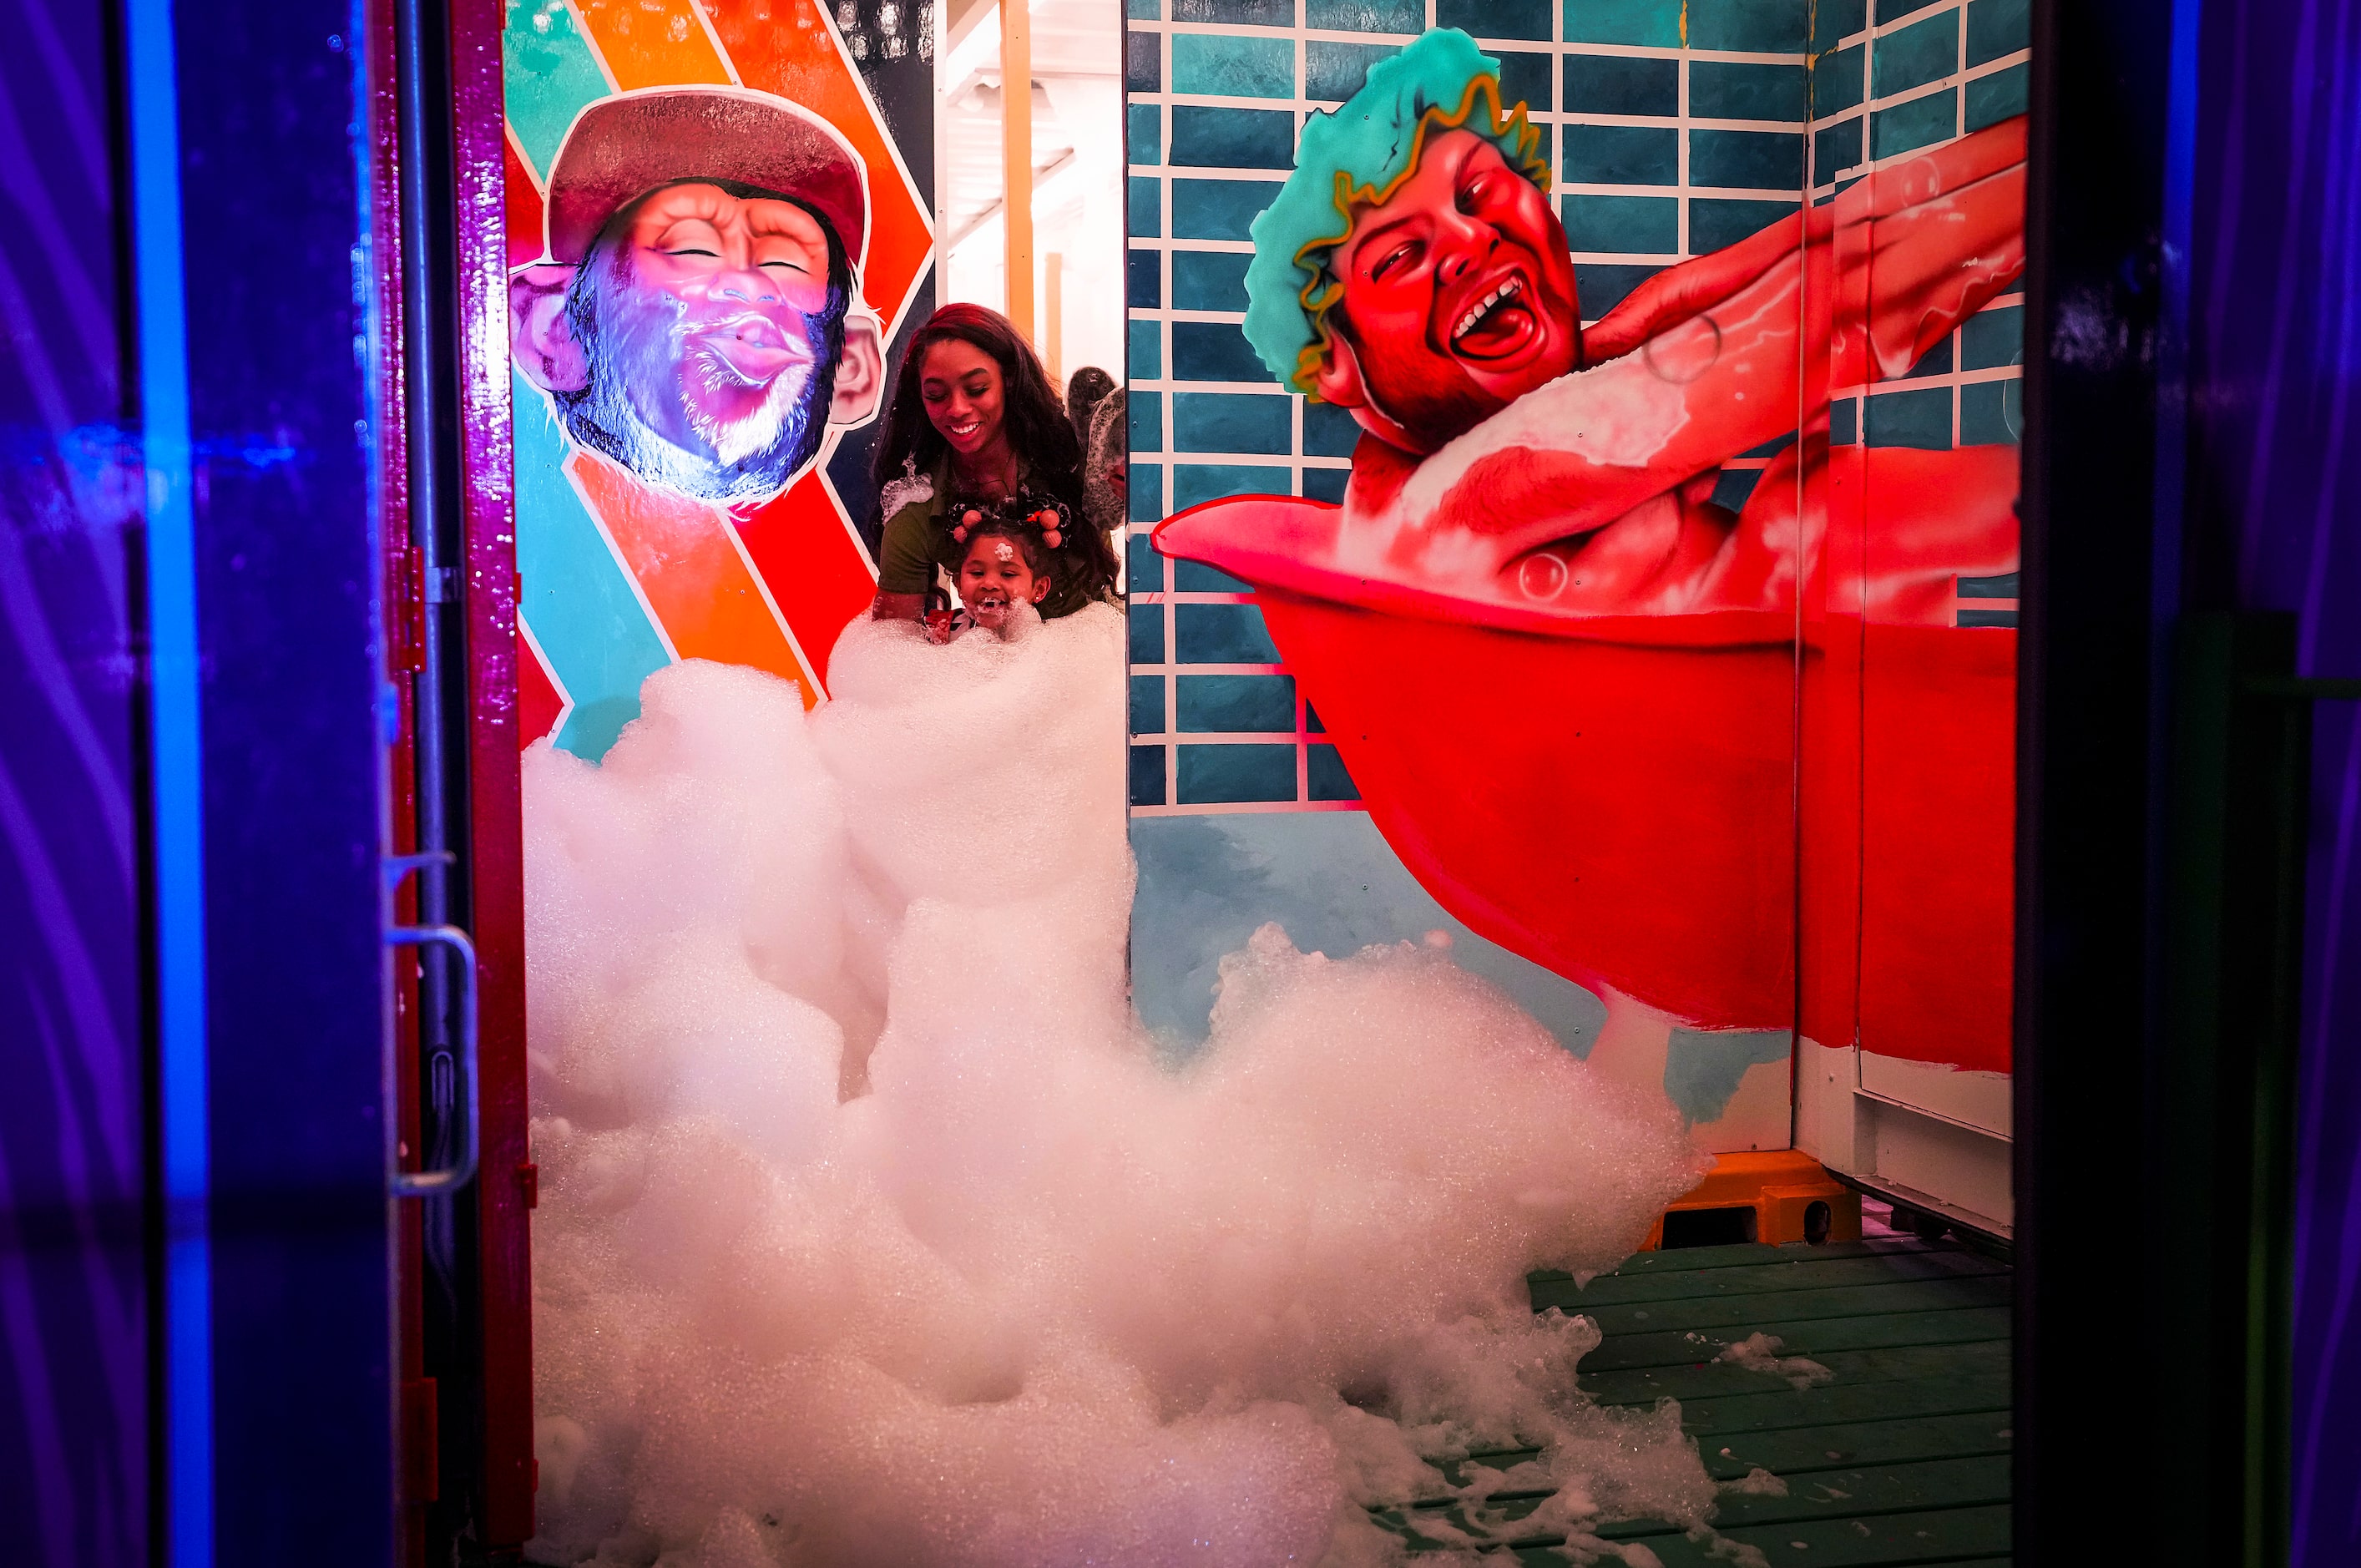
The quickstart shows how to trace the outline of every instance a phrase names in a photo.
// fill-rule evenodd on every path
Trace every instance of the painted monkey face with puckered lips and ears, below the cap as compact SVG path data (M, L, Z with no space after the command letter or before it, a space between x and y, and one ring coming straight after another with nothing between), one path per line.
M564 274L562 305L531 274ZM581 269L519 281L519 359L574 439L701 501L781 491L829 423L876 406L876 324L845 314L843 248L796 201L659 187L609 220Z

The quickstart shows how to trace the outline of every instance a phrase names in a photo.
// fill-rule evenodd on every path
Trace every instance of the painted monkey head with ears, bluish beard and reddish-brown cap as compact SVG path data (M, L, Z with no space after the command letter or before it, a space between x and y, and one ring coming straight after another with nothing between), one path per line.
M543 194L552 260L510 279L517 364L642 484L770 501L878 406L845 246L869 234L864 184L836 132L760 92L590 104Z

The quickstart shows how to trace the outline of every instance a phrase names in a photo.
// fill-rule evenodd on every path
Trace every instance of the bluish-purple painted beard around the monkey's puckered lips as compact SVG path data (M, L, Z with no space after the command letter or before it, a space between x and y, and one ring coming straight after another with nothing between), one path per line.
M567 430L642 479L722 505L765 501L819 451L836 394L841 312L805 314L812 366L800 375L781 371L753 409L730 420L715 418L706 399L741 392L746 378L713 347L692 342L687 307L642 286L628 253L602 246L583 264L567 314L590 366L588 387L557 397ZM642 413L647 404L675 413L687 439L656 430Z

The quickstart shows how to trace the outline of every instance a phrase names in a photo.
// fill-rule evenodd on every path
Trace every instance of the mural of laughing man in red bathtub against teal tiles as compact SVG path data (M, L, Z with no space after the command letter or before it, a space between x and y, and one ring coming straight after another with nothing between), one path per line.
M1192 170L1171 168L1173 298L1159 300L1240 312L1230 331L1254 359L1232 354L1225 380L1258 371L1303 399L1301 494L1251 494L1265 489L1254 475L1287 470L1232 470L1225 489L1244 494L1214 498L1176 484L1155 550L1171 588L1218 576L1258 609L1275 668L1317 711L1313 739L1350 779L1343 793L1443 912L1598 997L1591 1039L1653 1034L1653 1051L1620 1065L1629 1077L1679 1100L1669 1058L1683 1039L1799 1025L1809 1051L1858 1039L1886 1063L1990 1079L2007 1070L2009 1027L2014 607L1995 600L2014 597L2016 451L2014 430L1979 427L1976 399L2014 383L1979 383L1957 404L1953 387L1931 392L1938 439L1891 439L1894 416L1927 394L1879 394L1950 373L1962 328L2014 328L2023 116L1995 94L2009 50L1976 38L2007 40L2009 17L1993 17L2007 7L1889 31L1823 17L1811 50L1797 47L1801 12L1787 26L1716 9L1695 31L1681 12L1679 28L1650 31L1643 9L1542 17L1542 38L1584 24L1584 38L1660 45L1556 61L1457 28L1388 50L1332 43L1334 19L1308 14L1303 94L1336 109L1303 113L1284 177L1254 187L1251 224L1221 257L1242 260L1242 276L1216 300L1180 295L1183 264L1211 257L1180 248L1204 229L1180 210ZM1136 21L1136 45L1143 31ZM1157 28L1155 43L1136 61L1162 71L1169 50L1159 130L1183 146L1140 158L1136 120L1136 172L1159 153L1204 156L1188 146L1188 116L1251 113L1195 109L1192 94L1244 80L1192 80L1197 31ZM1905 45L1934 66L1908 76ZM1757 64L1775 47L1797 47L1792 66ZM1322 94L1322 54L1346 50L1355 68L1325 73L1350 90ZM1995 54L2000 71L1964 92L1945 80ZM1662 111L1709 130L1686 132L1679 172L1634 175L1646 158L1629 149L1657 135L1639 130L1657 111L1653 80ZM1863 97L1929 80L1943 85L1912 113L1938 106L1941 123L1915 139L1898 111L1863 113ZM1707 85L1738 102L1709 104ZM1582 111L1613 113L1594 125ZM1783 144L1801 163L1804 135L1757 130L1787 113L1813 125L1825 113L1811 156L1844 170L1797 175L1809 203L1714 191L1681 213L1653 194L1598 194L1617 177L1735 182L1707 168L1728 168L1731 144ZM1580 182L1563 208L1551 132ZM1662 132L1667 146L1676 135ZM1731 234L1731 208L1757 227ZM1660 239L1617 246L1601 239L1601 213L1686 222L1679 241L1667 222ZM1686 255L1601 257L1598 288L1570 224L1584 248ZM1698 243L1716 224L1726 243ZM1214 331L1157 314L1176 354ZM1183 409L1209 394L1173 385L1173 439L1145 444L1178 470L1197 446ZM1350 453L1343 472L1313 468L1315 425L1317 451ZM1145 793L1143 845L1190 805ZM1157 902L1143 848L1143 907ZM1152 963L1145 947L1136 961ZM1783 1070L1778 1056L1764 1065ZM1712 1100L1683 1110L1728 1115ZM1787 1108L1764 1110L1742 1133L1707 1131L1716 1148L1783 1148Z

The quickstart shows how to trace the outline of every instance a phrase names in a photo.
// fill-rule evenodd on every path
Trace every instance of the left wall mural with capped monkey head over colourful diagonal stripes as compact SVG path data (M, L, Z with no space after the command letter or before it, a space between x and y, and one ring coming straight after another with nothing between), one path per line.
M597 758L678 661L826 694L876 593L859 477L930 300L907 5L510 9L522 739Z

